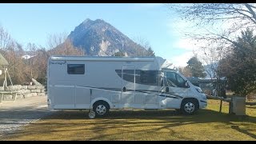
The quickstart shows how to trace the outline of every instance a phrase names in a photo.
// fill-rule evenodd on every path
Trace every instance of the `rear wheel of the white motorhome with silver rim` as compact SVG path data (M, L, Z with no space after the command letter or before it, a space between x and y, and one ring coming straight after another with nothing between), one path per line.
M109 113L110 106L106 102L95 102L93 110L96 114L96 117L103 117Z

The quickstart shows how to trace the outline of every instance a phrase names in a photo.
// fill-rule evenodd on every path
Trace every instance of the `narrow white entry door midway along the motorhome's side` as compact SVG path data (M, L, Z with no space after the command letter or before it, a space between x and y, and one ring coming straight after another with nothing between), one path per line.
M122 104L131 107L134 104L135 94L135 66L122 66Z

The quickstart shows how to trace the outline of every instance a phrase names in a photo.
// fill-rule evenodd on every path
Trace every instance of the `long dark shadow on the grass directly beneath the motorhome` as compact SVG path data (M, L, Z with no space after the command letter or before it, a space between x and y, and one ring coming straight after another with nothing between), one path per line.
M51 114L45 119L90 119L89 110L62 110ZM214 110L198 110L196 114L178 114L175 110L110 110L104 117L95 119L179 119L181 122L255 122L256 117L236 116L233 114L219 113Z

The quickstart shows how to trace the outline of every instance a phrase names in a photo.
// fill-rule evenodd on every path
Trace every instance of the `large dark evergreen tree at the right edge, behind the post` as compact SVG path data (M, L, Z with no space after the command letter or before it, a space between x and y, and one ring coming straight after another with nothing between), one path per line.
M253 30L242 31L242 36L233 45L232 54L222 59L218 69L236 94L246 95L256 90L256 36Z

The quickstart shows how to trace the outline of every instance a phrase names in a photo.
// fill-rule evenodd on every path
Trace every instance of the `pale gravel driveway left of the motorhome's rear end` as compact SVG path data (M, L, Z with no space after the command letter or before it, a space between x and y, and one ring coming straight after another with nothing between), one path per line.
M53 114L47 109L47 97L35 96L17 99L16 102L0 103L0 138L22 126Z

